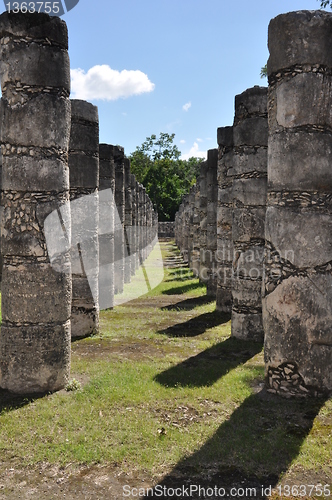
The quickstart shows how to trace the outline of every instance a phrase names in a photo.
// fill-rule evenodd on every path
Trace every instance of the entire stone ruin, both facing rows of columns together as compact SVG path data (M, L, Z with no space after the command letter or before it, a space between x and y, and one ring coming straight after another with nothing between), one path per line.
M286 397L332 390L331 49L330 13L271 21L269 89L236 96L173 228L160 225L232 336L264 340L269 391ZM158 219L123 148L99 144L97 108L69 99L60 18L2 14L0 74L0 387L54 391L71 338L98 332Z

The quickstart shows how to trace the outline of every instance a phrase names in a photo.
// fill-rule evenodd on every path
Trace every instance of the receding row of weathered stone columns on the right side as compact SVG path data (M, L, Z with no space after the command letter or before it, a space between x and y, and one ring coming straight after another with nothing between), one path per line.
M269 89L218 129L217 203L212 150L175 239L232 336L264 340L268 390L304 397L332 391L332 14L282 14L268 45Z

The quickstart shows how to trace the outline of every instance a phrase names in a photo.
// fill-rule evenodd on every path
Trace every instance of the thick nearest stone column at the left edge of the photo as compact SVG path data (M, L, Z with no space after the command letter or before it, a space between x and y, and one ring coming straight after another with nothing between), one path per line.
M55 391L69 378L71 270L68 251L62 266L51 266L48 251L54 248L47 248L43 228L60 207L70 220L67 27L59 17L6 12L0 38L1 387ZM70 225L64 239L68 250Z

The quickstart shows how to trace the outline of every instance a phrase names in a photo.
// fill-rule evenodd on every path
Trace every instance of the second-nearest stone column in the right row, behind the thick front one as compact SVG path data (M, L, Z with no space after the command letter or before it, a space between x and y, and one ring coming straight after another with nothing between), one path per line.
M262 276L267 191L267 88L235 97L232 336L263 342Z

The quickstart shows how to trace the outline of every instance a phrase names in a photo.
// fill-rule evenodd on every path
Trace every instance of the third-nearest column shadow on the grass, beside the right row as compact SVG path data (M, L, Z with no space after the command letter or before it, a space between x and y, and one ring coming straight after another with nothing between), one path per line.
M201 299L201 297L198 297L198 299ZM178 304L173 304L171 307L176 309L177 306ZM191 318L184 323L176 323L175 325L169 326L164 330L159 330L158 333L162 333L170 337L197 337L198 335L202 335L202 333L209 328L214 328L215 326L228 323L230 319L231 315L229 313L222 313L215 310L201 314L195 318Z

